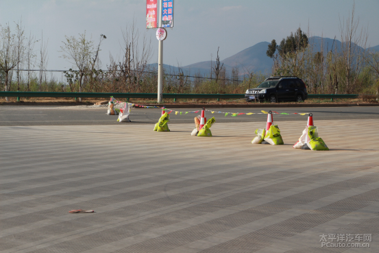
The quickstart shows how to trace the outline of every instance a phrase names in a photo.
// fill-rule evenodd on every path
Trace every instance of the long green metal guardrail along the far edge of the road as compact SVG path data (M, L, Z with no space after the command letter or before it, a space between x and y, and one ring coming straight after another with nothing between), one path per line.
M151 98L156 99L157 93L56 93L56 92L35 92L35 91L0 91L0 97L99 97L99 98ZM357 94L308 94L308 99L339 99L339 98L357 98ZM164 93L163 98L169 99L243 99L245 94L178 94Z

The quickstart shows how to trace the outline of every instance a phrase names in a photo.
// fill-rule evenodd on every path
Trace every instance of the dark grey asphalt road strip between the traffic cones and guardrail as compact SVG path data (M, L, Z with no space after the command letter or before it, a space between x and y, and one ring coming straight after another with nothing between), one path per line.
M175 108L170 108L175 110ZM216 112L260 112L259 108L207 108ZM194 111L197 109L177 109ZM199 108L198 110L201 110ZM263 110L268 111L264 108ZM272 108L276 112L313 112L317 119L379 119L379 107L339 107L339 108ZM0 125L119 125L116 116L106 115L107 108L79 107L30 107L0 106ZM266 115L240 115L225 117L224 114L207 112L206 116L215 116L217 122L258 122L266 121ZM160 117L160 109L133 109L132 123L156 123ZM172 123L193 123L193 113L175 115L171 113ZM299 115L275 115L274 121L304 120Z

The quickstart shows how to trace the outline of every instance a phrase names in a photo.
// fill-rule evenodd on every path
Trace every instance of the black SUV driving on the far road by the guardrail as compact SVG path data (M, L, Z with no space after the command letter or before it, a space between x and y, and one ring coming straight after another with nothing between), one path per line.
M249 88L245 93L246 101L267 100L271 103L278 101L303 101L308 98L304 82L293 76L274 76L267 78L256 88Z

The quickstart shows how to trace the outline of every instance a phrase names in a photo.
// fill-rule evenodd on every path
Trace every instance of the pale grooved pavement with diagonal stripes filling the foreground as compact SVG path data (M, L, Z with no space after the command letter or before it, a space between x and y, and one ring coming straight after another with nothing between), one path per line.
M329 152L292 149L299 121L282 146L250 144L262 122L2 126L0 251L378 252L379 119L315 123Z

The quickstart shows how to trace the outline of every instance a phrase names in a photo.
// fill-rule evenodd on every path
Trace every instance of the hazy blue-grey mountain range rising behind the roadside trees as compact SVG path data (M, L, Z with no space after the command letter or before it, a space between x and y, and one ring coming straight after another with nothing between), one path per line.
M234 54L228 58L225 58L221 61L223 67L230 73L233 67L239 67L239 72L241 75L251 71L261 72L261 73L271 73L271 68L273 65L273 60L266 55L268 48L267 41L257 43L252 47L248 47L239 53ZM334 40L332 38L321 38L318 36L313 36L309 38L309 44L314 47L314 51L321 51L323 53L330 51L330 49L336 48L337 50L341 49L341 41ZM375 47L370 47L368 50L379 51L379 45ZM197 62L194 64L189 64L182 67L185 75L210 75L210 69L212 64L215 64L215 61L204 61ZM150 67L156 68L157 64L150 64ZM164 69L167 73L178 73L178 67L164 64Z

